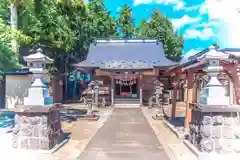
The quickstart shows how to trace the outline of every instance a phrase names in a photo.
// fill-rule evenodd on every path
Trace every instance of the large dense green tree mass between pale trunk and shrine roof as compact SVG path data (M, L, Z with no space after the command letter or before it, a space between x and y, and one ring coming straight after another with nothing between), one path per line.
M102 0L41 0L39 5L21 6L19 28L33 38L34 46L44 47L63 71L63 63L80 61L90 43L99 37L112 37L117 26Z

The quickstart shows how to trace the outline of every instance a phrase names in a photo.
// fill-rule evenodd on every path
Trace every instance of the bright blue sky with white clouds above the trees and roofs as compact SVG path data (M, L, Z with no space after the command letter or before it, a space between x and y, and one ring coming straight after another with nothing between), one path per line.
M240 48L240 0L105 0L115 17L124 4L132 7L137 23L158 8L184 36L183 54L192 55L213 43Z

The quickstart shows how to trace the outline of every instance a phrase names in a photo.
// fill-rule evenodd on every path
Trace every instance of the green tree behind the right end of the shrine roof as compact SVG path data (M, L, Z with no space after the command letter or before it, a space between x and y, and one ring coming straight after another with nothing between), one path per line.
M166 57L175 61L180 60L183 37L174 32L172 23L158 9L154 10L148 23L140 25L138 36L162 41Z

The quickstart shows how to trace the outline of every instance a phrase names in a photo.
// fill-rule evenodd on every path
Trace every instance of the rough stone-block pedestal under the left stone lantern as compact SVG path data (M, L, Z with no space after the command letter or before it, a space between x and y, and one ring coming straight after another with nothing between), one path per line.
M50 150L62 141L62 136L59 111L16 113L13 148Z

